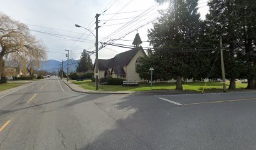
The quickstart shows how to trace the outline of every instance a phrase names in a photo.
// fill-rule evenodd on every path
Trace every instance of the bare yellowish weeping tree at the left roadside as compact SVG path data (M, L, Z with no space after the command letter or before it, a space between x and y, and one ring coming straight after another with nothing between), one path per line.
M30 34L26 24L0 13L0 79L4 76L4 56L16 59L23 66L29 61L39 66L39 61L46 58L46 51L42 42ZM26 67L23 70L26 73Z

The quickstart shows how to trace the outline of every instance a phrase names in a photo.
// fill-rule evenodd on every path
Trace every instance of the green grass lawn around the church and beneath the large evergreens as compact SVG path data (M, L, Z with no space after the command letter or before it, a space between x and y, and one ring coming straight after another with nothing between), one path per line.
M72 81L72 83L77 84L81 88L95 90L95 83L90 80L85 81ZM153 90L164 90L164 89L175 89L175 83L153 83ZM184 90L190 91L202 91L205 83L183 83ZM227 82L227 88L229 83ZM247 87L247 84L241 83L240 81L236 83L237 89L244 89ZM222 89L222 82L209 82L206 84L205 91L218 91ZM110 86L110 85L99 85L100 91L148 91L151 90L151 84L149 83L139 83L137 87L123 87L123 86Z

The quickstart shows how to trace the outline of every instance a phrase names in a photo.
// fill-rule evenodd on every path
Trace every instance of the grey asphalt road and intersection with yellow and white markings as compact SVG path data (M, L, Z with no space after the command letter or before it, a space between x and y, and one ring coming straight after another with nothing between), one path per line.
M0 93L0 149L256 149L256 92L82 94L56 78Z

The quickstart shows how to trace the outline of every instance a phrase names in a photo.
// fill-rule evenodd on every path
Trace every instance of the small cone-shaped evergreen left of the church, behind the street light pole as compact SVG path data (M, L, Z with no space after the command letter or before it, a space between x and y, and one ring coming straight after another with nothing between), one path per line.
M90 54L87 53L85 49L83 49L83 52L81 53L80 60L78 62L77 66L77 72L79 73L85 73L89 70L92 70L93 64L92 59L90 58Z

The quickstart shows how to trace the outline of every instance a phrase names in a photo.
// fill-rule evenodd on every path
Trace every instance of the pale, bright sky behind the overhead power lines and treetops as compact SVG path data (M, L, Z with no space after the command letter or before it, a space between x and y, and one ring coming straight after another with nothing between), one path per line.
M208 12L207 1L200 0L198 2L202 19ZM107 42L109 39L122 37L146 22L156 19L159 16L157 10L166 8L166 5L156 6L154 0L0 0L0 4L0 12L28 24L31 33L45 44L46 51L49 51L48 59L58 61L67 59L65 49L72 50L70 58L73 59L79 59L83 49L87 49L87 51L95 49L95 38L92 34L85 29L75 27L75 24L88 27L95 33L94 17L96 13L102 13L107 9L99 17L99 25L102 26L99 29L99 41ZM145 11L146 9L149 10ZM113 14L116 12L130 13ZM137 21L124 26L132 19L135 20L136 17ZM123 29L111 35L120 27ZM138 29L142 41L147 41L147 29L151 27L152 24L147 24ZM131 45L132 41L129 40L134 39L136 32L131 32L121 38L122 41L116 41L116 43ZM149 43L143 42L142 46L148 47ZM127 50L129 49L107 46L99 51L99 58L112 58L115 54ZM95 56L92 55L92 59L94 60Z

